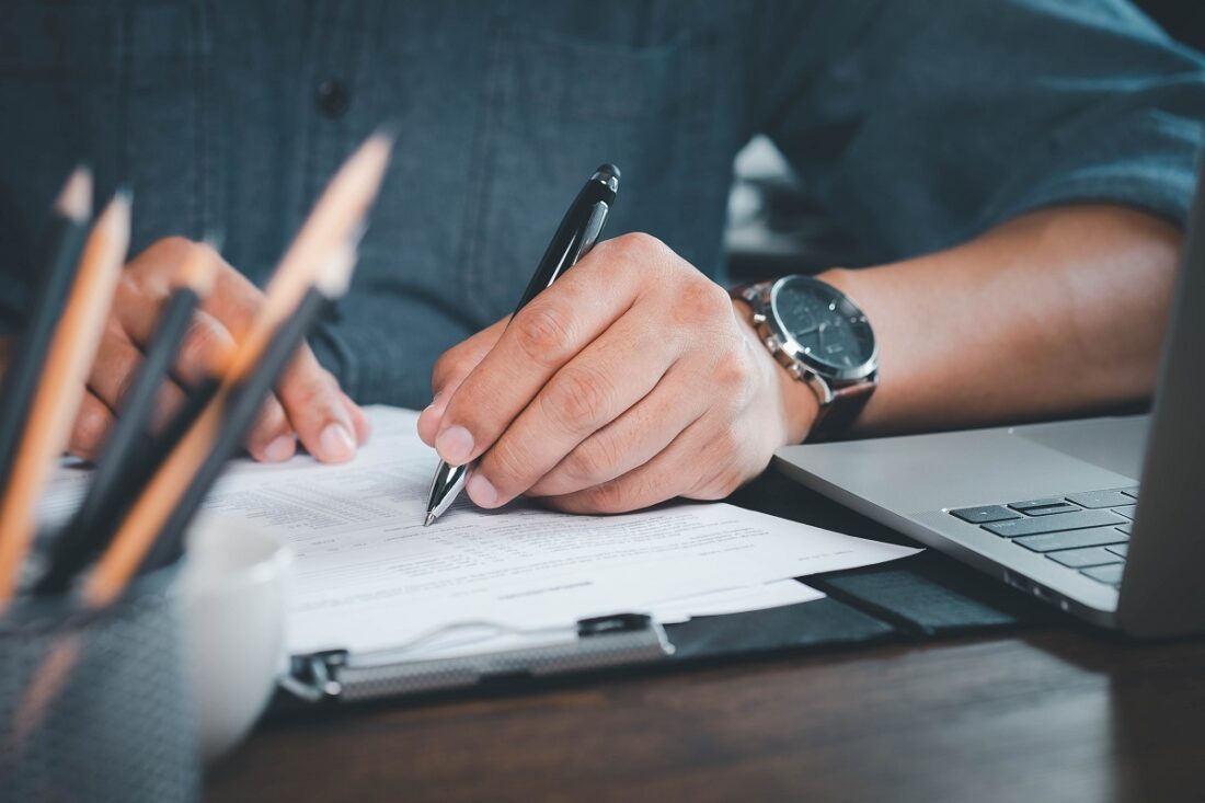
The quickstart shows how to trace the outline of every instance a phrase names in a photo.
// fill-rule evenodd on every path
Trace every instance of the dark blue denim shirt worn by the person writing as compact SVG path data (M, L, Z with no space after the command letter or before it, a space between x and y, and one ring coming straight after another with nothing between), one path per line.
M623 170L606 235L723 281L756 133L870 262L1027 210L1183 223L1205 60L1123 0L5 0L0 307L89 160L133 250L224 233L263 282L340 162L396 154L352 291L313 338L363 403L422 406L439 353L506 315L574 193Z

